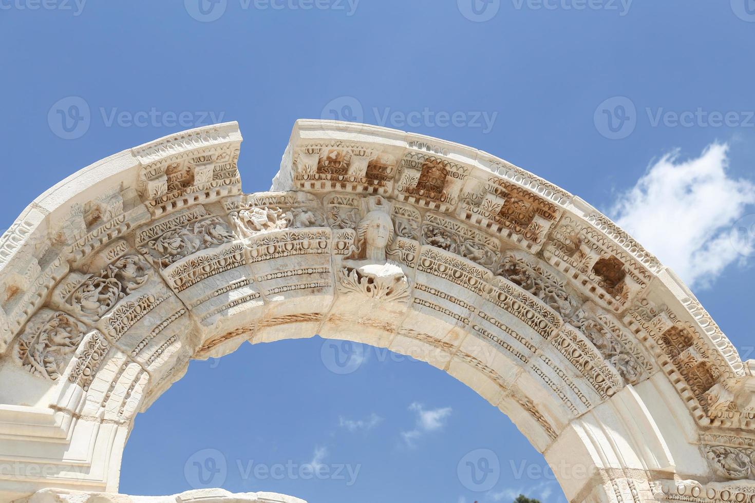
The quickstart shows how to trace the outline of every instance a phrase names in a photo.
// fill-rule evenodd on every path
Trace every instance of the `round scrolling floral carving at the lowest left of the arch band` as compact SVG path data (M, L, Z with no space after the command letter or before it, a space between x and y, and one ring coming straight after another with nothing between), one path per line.
M35 376L57 380L66 370L83 336L82 326L63 312L52 312L47 320L18 343L17 357Z

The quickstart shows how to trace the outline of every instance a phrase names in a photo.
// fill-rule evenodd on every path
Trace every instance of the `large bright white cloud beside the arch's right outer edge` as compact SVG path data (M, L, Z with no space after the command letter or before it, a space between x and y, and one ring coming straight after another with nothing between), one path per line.
M691 287L708 287L750 246L732 243L732 224L755 204L755 185L728 168L726 143L689 160L675 150L621 194L610 214Z

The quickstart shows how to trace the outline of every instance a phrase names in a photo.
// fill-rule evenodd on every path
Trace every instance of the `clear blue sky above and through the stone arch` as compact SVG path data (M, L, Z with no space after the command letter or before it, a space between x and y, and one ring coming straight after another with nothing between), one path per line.
M492 152L609 213L755 357L753 0L201 1L0 0L0 226L75 170L175 130L239 121L256 192L295 119L362 120ZM194 362L137 417L122 492L563 499L473 391L333 344ZM487 477L458 470L470 455Z

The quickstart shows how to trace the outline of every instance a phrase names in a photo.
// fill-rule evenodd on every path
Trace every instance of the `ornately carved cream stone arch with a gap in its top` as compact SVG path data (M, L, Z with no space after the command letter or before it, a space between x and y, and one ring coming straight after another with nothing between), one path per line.
M298 121L271 192L243 194L241 142L219 124L113 155L2 236L0 501L300 501L131 499L119 470L191 359L318 334L466 383L570 501L755 503L755 360L589 204L467 146L335 121Z

